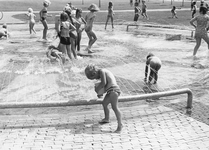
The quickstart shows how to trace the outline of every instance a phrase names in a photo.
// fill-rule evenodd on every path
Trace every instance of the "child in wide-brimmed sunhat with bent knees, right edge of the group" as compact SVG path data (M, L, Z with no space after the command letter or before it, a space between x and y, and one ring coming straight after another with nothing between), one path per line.
M93 53L93 51L91 51L91 47L96 42L97 37L94 31L92 30L92 28L93 28L94 19L96 17L95 12L99 11L99 8L96 4L91 4L88 10L90 10L90 12L87 13L85 17L85 21L86 21L85 31L89 37L89 43L86 50L88 50L88 53Z

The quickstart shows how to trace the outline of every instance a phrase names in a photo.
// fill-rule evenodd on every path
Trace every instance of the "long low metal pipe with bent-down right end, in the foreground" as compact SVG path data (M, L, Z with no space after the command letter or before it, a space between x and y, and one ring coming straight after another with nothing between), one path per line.
M123 96L119 97L119 102L128 102L128 101L136 101L136 100L144 100L144 99L153 99L167 96L174 96L180 94L187 94L187 113L191 113L192 109L192 100L193 94L192 91L188 88L172 90L166 92L156 92L142 95L134 95L134 96ZM50 101L50 102L23 102L23 103L2 103L0 104L0 109L8 109L8 108L36 108L36 107L64 107L64 106L79 106L79 105L95 105L102 104L102 99L94 99L94 100L80 100L80 101Z

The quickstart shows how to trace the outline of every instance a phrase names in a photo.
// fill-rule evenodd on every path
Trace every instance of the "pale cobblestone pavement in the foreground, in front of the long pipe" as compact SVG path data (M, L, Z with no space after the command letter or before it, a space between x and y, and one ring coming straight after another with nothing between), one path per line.
M209 149L209 126L165 106L121 108L123 131L113 133L117 122L100 125L99 107L2 110L0 149Z

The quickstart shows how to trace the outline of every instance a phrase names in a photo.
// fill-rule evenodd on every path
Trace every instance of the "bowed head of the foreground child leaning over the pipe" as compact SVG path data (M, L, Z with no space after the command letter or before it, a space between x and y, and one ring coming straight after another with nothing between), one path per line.
M85 75L88 79L94 80L97 79L97 71L98 69L94 64L90 64L85 68Z

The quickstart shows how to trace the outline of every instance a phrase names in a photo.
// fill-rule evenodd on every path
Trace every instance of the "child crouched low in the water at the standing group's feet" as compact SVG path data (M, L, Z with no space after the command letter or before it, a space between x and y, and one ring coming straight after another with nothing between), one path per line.
M59 49L53 45L50 45L48 47L48 51L46 52L46 56L51 60L57 60L59 59L60 62L63 64L65 63L65 57L62 54L62 52L59 51Z

